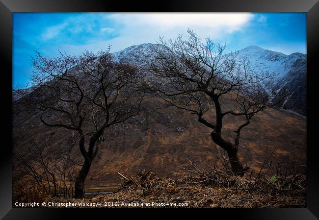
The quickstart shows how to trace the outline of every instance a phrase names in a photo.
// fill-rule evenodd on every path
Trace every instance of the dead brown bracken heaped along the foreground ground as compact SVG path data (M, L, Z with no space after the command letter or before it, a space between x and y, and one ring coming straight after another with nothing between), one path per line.
M134 175L124 173L121 174L124 182L116 192L84 198L84 201L135 204L128 207L141 207L142 203L152 202L187 203L186 207L213 208L306 206L306 176L303 173L269 177L266 172L260 172L254 176L240 177L194 163L192 168L183 170L184 175L175 180L159 177L147 170ZM77 202L78 199L72 201Z

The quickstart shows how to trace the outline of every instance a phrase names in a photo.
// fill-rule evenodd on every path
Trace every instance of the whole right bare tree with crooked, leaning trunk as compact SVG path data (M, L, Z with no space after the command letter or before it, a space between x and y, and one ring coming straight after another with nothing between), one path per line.
M243 168L239 160L240 131L257 113L279 102L272 101L273 75L255 73L246 59L236 59L238 52L226 54L225 45L215 45L210 38L201 42L192 30L187 32L187 40L181 35L168 43L160 38L160 44L152 48L154 56L148 69L153 73L153 82L145 84L167 106L197 115L199 122L212 129L213 142L227 152L232 171L243 175L248 168ZM232 100L232 107L227 109L223 106L226 99ZM214 120L207 117L210 112L214 112ZM234 130L233 142L222 132L227 115L242 119Z

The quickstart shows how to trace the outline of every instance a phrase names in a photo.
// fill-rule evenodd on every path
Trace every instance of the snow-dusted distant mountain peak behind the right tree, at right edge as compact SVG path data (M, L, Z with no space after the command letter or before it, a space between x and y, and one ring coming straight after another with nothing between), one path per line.
M257 73L276 74L276 90L289 90L290 95L283 103L283 108L306 115L306 54L292 53L286 55L257 46L249 46L238 51L238 58L244 57L250 61L251 68Z

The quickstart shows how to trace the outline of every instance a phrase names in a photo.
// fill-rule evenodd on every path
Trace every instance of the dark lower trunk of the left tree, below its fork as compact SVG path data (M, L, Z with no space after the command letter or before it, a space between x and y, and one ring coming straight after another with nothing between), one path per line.
M88 159L84 160L84 163L82 165L82 168L75 180L75 198L83 198L84 197L84 182L87 174L90 171L91 162Z

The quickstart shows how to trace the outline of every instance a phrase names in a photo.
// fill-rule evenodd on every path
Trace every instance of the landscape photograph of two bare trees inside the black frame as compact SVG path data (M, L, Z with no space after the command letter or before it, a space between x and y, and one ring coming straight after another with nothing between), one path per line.
M13 208L306 208L306 12L12 13Z

